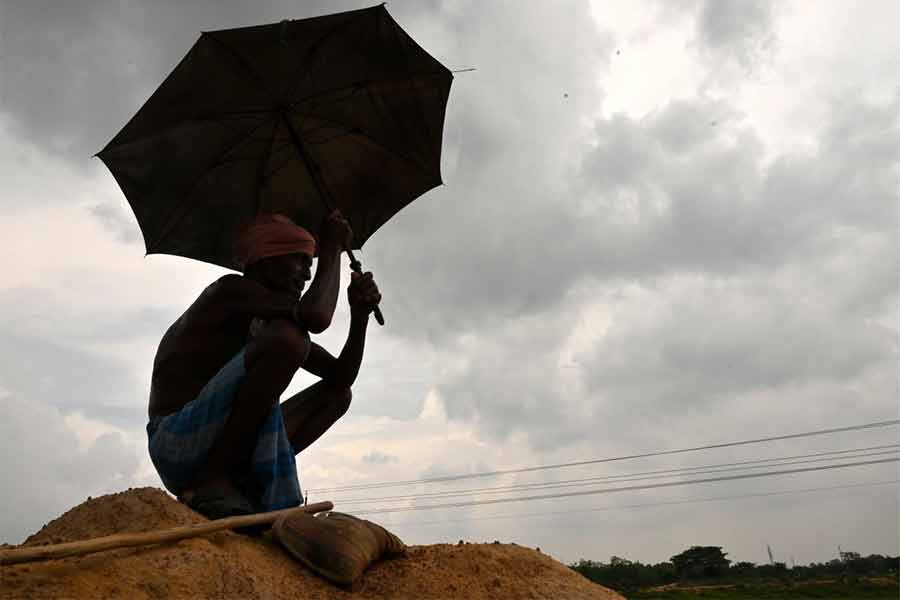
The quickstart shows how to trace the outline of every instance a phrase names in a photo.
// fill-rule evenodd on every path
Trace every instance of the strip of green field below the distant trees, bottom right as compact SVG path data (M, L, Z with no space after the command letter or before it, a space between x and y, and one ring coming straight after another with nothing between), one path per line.
M891 578L808 581L794 584L746 583L709 586L663 586L626 594L629 600L790 600L817 598L819 600L897 600L900 585Z

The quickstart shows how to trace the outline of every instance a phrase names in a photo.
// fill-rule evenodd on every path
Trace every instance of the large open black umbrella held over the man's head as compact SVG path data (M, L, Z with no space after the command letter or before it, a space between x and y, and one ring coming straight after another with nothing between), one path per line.
M360 271L352 250L442 183L452 79L384 5L204 32L97 156L147 254L239 269L234 238L256 214L316 234L338 208Z

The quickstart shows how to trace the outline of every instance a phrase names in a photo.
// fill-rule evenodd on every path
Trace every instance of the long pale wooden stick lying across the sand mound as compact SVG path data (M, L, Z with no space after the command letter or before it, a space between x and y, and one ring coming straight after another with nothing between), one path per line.
M316 502L315 504L298 506L296 508L286 508L284 510L275 510L272 512L244 515L240 517L228 517L210 521L209 523L197 523L195 525L173 527L172 529L165 529L163 531L117 533L79 542L32 546L29 548L17 548L15 550L2 550L0 551L0 565L14 565L16 563L33 560L49 560L53 558L64 558L66 556L81 556L92 552L101 552L103 550L112 550L114 548L127 548L129 546L145 546L148 544L174 542L176 540L197 537L214 531L221 531L223 529L236 529L240 527L250 527L251 525L274 523L281 515L293 512L314 514L333 508L334 505L331 502Z

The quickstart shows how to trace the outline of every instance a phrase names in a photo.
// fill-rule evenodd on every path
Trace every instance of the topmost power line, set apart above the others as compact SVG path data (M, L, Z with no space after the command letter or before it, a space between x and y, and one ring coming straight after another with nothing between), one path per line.
M346 485L346 486L338 486L338 487L330 487L330 488L316 488L310 490L311 492L342 492L347 490L362 490L362 489L375 489L375 488L384 488L384 487L395 487L402 485L413 485L417 483L443 483L447 481L458 481L460 479L474 479L479 477L494 477L497 475L508 475L512 473L530 473L534 471L544 471L547 469L562 469L568 467L579 467L584 465L593 465L599 463L608 463L608 462L616 462L622 460L633 460L636 458L649 458L652 456L664 456L671 454L683 454L686 452L697 452L700 450L712 450L717 448L729 448L733 446L744 446L747 444L759 444L763 442L775 442L779 440L789 440L789 439L797 439L804 437L812 437L816 435L826 435L831 433L841 433L846 431L859 431L862 429L875 429L880 427L891 427L900 424L900 419L892 419L889 421L876 421L874 423L865 423L862 425L851 425L849 427L835 427L831 429L819 429L816 431L804 431L802 433L791 433L787 435L777 435L772 437L764 437L764 438L756 438L751 440L741 440L738 442L723 442L718 444L708 444L705 446L694 446L691 448L680 448L677 450L660 450L657 452L645 452L643 454L630 454L626 456L614 456L611 458L596 458L592 460L583 460L576 462L568 462L568 463L558 463L553 465L540 465L534 467L524 467L519 469L502 469L498 471L486 471L482 473L469 473L466 475L444 475L441 477L428 477L424 479L411 479L407 481L387 481L381 483L361 483L356 485Z

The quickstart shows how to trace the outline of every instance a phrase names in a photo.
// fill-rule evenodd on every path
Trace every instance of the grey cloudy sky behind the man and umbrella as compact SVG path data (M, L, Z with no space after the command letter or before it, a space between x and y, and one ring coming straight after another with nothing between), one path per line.
M198 32L364 6L0 0L0 541L87 496L161 485L143 430L156 345L225 272L145 258L92 155ZM898 418L896 3L388 9L449 68L477 70L451 90L445 185L361 253L388 324L369 330L348 416L300 456L311 500L362 511L598 490L678 479L383 499L900 441L880 427L323 490ZM342 295L317 341L337 353L348 319ZM800 564L838 545L900 552L898 486L884 483L897 479L882 463L374 518L408 543L498 539L563 561L661 561L702 544L765 562L770 544Z

